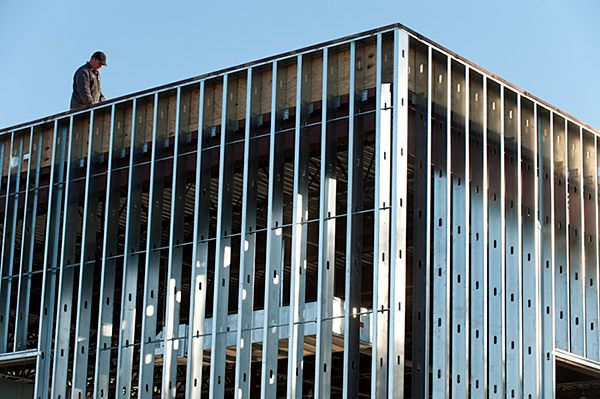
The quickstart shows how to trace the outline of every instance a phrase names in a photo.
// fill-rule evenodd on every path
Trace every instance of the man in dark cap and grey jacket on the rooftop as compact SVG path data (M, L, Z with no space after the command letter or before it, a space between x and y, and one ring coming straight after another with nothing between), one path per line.
M106 66L106 55L102 51L96 51L90 60L75 72L71 109L87 107L106 100L100 88L100 73L98 72L102 66Z

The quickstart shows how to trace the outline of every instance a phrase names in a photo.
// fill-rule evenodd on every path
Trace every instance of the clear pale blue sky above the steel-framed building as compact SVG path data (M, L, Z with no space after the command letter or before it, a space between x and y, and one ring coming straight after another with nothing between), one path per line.
M0 129L67 110L95 50L115 98L394 22L600 129L598 0L0 0Z

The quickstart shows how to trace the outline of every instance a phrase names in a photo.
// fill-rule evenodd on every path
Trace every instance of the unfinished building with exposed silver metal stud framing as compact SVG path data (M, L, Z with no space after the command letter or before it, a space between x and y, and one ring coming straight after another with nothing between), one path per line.
M599 397L599 134L399 24L1 129L3 396Z

